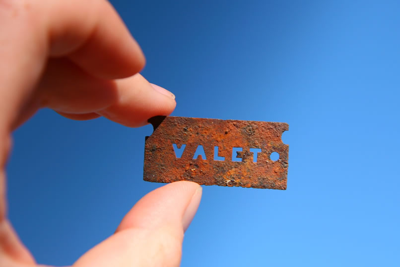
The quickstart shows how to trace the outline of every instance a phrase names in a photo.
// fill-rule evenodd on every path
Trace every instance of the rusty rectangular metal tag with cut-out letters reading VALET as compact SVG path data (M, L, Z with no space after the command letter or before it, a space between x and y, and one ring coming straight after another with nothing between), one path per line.
M287 123L169 116L149 122L146 181L286 189L289 146L281 136ZM270 159L272 152L278 160Z

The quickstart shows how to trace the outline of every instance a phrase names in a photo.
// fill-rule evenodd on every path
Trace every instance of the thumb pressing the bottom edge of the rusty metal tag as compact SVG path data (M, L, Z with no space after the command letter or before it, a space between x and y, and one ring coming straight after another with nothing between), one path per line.
M178 267L184 232L200 204L201 187L178 181L145 195L116 233L84 254L74 267Z

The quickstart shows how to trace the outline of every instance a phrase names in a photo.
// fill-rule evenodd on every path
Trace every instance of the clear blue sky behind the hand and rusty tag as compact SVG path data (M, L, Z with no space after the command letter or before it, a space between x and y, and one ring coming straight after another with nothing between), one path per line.
M112 2L173 115L290 125L288 189L204 187L183 267L400 266L399 1ZM9 217L39 263L72 264L161 185L151 132L51 110L15 131Z

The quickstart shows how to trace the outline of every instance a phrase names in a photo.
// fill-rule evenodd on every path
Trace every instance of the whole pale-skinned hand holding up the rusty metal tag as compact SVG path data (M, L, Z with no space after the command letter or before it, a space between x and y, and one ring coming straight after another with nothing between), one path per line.
M42 107L139 127L170 114L175 96L138 74L140 47L105 0L0 0L0 59L0 266L39 266L7 219L11 132ZM73 266L179 266L200 198L201 187L185 181L148 193Z

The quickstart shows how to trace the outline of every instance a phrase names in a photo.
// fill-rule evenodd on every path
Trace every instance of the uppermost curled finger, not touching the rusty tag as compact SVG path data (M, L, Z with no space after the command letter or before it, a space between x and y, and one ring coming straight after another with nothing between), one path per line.
M143 53L105 0L40 1L51 43L50 55L68 56L103 79L132 76L144 66Z

